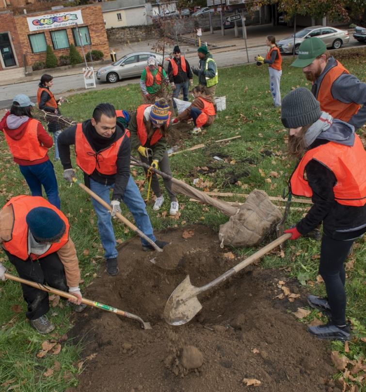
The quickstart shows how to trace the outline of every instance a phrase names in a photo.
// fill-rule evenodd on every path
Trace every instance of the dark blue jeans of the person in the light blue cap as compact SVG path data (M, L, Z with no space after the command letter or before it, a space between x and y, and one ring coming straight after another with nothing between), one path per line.
M48 161L38 165L19 165L19 169L31 189L32 196L42 197L43 185L48 201L60 209L61 202L59 197L59 190L57 187L56 175L55 171L53 170L53 165L49 159Z

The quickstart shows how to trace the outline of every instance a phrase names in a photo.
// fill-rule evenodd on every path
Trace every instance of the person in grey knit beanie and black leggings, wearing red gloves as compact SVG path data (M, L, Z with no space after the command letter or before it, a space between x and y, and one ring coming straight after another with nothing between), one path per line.
M286 95L281 120L289 128L290 154L302 157L290 179L291 192L314 203L285 232L297 240L323 221L319 273L328 298L310 295L308 302L328 313L330 321L308 331L320 339L348 340L344 261L353 241L366 232L366 151L354 127L322 112L307 89Z

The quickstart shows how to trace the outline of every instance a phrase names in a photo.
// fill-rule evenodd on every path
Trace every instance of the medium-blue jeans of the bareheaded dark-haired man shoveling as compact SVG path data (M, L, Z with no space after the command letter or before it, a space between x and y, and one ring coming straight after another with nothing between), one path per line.
M110 189L113 188L114 184L103 185L99 182L90 179L90 189L101 197L106 203L111 203ZM139 188L133 181L132 177L129 176L125 195L123 201L126 204L129 211L131 211L136 226L152 241L156 241L154 236L153 227L151 226L149 215L146 212L146 206L141 197ZM111 213L92 198L93 207L98 217L98 230L100 235L100 241L104 248L104 256L106 259L117 257L118 252L116 249L116 239L114 236L113 225L111 220ZM147 245L148 242L141 239L143 245Z

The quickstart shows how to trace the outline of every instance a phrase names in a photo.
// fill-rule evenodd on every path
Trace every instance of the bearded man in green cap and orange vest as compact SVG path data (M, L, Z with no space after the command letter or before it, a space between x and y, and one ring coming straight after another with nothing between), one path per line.
M366 83L330 56L323 41L317 37L306 39L291 65L302 68L306 79L313 83L311 92L322 111L356 130L366 123Z

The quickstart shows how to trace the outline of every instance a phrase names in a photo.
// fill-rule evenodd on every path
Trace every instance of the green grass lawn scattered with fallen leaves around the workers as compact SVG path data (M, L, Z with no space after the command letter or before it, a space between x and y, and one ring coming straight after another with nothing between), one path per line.
M343 60L344 65L362 81L366 81L365 59L351 57ZM281 81L282 96L297 86L310 88L300 69L290 68L291 59L284 61ZM171 157L171 166L174 176L192 184L194 178L203 178L212 182L210 190L217 189L223 192L249 193L255 188L265 190L271 196L281 196L286 186L288 176L292 172L294 163L286 156L286 131L280 121L280 111L272 107L269 91L269 76L267 67L255 65L237 66L221 69L220 83L217 96L226 95L227 109L220 113L219 119L207 129L205 135L196 136L184 141L188 148L198 143L205 143L201 150L176 154ZM68 98L69 103L62 106L64 116L82 121L91 117L96 104L110 102L118 109L132 110L141 101L139 85L128 85L115 89L89 91L76 94ZM174 132L173 128L173 132ZM214 140L240 135L240 139L230 143L214 143ZM2 136L1 136L2 137ZM3 138L0 151L2 163L0 166L0 204L3 205L11 196L29 194L29 189L20 174L18 167L13 163ZM215 162L214 155L226 155L229 162ZM235 160L235 164L230 161ZM213 174L202 175L198 169L204 166L218 167ZM55 165L59 179L62 208L71 223L71 237L76 244L80 260L83 288L90 283L97 272L102 260L102 249L96 227L96 217L89 197L76 185L70 187L62 178L62 167ZM261 172L263 175L261 174ZM142 170L137 169L138 177L143 179ZM278 178L269 177L271 171L279 174ZM229 184L228 179L238 174L237 183ZM78 171L79 178L82 178ZM271 183L266 179L271 178ZM163 188L163 187L162 187ZM143 191L146 196L146 189ZM167 198L168 200L168 198ZM235 200L235 198L231 198ZM240 199L238 199L240 201ZM218 230L219 225L227 221L222 213L212 207L204 207L199 203L190 202L187 197L179 196L181 216L178 220L162 217L161 211L157 214L148 206L148 212L155 230L172 226L182 226L194 223L203 223ZM295 207L303 207L294 203ZM168 202L163 209L168 210ZM123 207L123 213L131 218L131 214ZM301 219L301 212L290 211L287 225L295 224ZM114 224L116 237L122 241L127 240L132 233L118 223ZM366 330L366 285L365 285L365 259L366 244L358 240L354 255L354 266L347 271L347 316L350 317L356 336L350 343L350 352L346 355L350 359L357 359L361 355L366 357L365 343L358 337L365 336ZM85 250L85 252L84 252ZM249 255L255 248L241 248L234 251L238 255ZM285 268L289 277L296 277L302 283L316 281L318 275L319 242L309 239L300 239L286 247L285 257L275 255L263 257L263 268ZM313 257L314 256L314 257ZM15 269L2 255L2 261L11 273ZM322 284L307 286L315 294L324 294ZM22 312L16 313L14 306L21 305ZM13 309L12 309L13 308ZM44 358L37 358L36 354L41 348L45 337L37 334L29 326L24 316L25 303L22 299L20 285L6 281L0 284L0 382L16 380L9 386L18 385L19 391L64 391L67 386L77 383L77 362L81 347L71 343L62 343L62 351L57 356L47 354ZM62 336L70 328L70 311L68 308L51 308L50 316L56 324L54 338ZM312 313L309 317L313 317ZM343 345L333 343L332 349L344 353ZM50 377L43 376L54 362L60 362L59 370ZM1 387L5 391L9 386ZM360 387L359 391L366 391Z

